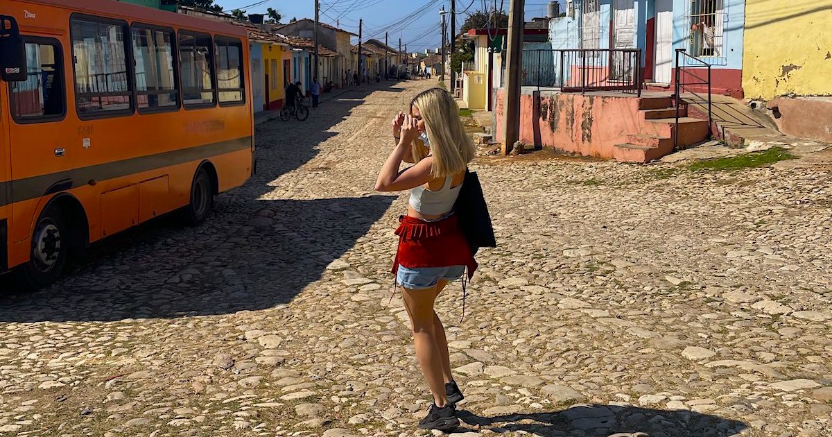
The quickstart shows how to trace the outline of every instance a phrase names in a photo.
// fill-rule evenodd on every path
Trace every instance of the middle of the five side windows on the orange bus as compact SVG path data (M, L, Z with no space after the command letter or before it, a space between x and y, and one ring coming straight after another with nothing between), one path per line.
M179 108L173 38L172 31L133 27L133 65L136 66L139 112Z

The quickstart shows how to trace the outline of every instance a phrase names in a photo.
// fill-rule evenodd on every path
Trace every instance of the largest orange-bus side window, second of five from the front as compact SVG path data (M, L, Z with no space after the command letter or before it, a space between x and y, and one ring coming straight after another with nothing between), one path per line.
M126 25L72 18L72 54L80 117L131 113Z

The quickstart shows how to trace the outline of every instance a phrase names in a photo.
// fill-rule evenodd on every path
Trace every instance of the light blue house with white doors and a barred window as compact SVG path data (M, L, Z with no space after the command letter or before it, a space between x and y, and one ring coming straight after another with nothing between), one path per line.
M648 85L676 81L676 51L711 65L711 87L742 97L745 0L582 0L553 18L553 48L639 48ZM572 47L568 47L572 46ZM682 66L700 62L680 56Z

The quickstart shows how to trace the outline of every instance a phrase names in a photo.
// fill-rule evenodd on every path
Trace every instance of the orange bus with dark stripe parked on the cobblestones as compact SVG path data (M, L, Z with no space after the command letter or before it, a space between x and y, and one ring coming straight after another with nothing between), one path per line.
M0 0L0 267L56 281L72 249L254 171L243 27L112 0Z

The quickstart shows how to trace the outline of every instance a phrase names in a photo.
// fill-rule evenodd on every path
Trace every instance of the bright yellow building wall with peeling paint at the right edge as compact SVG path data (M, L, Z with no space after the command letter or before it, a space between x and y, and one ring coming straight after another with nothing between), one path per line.
M832 0L747 0L745 98L832 95Z

